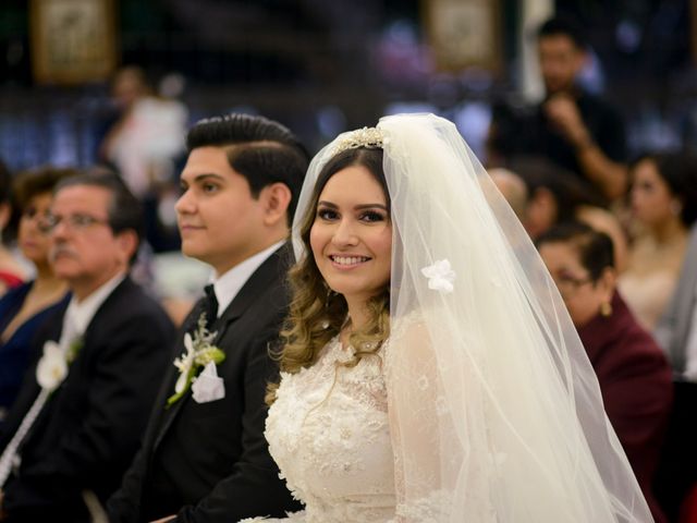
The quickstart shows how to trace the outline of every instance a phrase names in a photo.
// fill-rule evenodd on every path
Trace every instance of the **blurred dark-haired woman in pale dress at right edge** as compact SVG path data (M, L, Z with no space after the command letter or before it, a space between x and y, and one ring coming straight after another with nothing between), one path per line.
M639 323L652 331L675 290L687 231L697 218L697 158L645 155L629 168L632 245L619 288Z

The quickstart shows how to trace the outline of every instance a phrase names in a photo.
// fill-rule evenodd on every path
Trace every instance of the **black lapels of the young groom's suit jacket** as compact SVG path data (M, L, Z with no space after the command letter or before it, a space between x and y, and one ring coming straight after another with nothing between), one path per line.
M222 340L223 336L228 331L228 329L242 316L244 313L252 306L252 304L257 300L257 297L269 287L274 284L280 278L285 277L285 271L288 268L288 262L290 258L291 246L290 244L285 244L280 247L276 253L269 256L258 268L254 271L254 273L249 277L249 279L245 282L245 284L240 289L240 292L234 297L234 300L228 305L228 308L223 312L222 316L220 316L209 330L216 331L216 338L213 340L213 344L218 345L223 352L229 353L231 350L234 350L228 343L228 346L221 346L220 340ZM201 299L192 314L187 317L185 321L185 327L191 328L203 312L203 303ZM184 350L184 344L182 342L183 333L186 330L182 329L182 336L180 337L180 341L178 345L181 350ZM179 354L176 354L179 356ZM173 367L173 365L172 365ZM174 382L179 377L178 372L172 372L170 368L170 375L168 377L167 382L169 384L169 390L171 390L170 394L167 394L166 398L174 393ZM161 423L161 428L155 438L154 449L157 449L160 441L167 434L167 431L172 426L172 423L176 418L179 412L182 410L183 405L191 401L192 391L189 390L176 403L174 403L171 408L166 409L163 413L163 419Z

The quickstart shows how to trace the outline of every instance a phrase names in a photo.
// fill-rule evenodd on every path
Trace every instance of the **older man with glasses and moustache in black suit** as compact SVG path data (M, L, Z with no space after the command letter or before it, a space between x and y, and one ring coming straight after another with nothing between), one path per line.
M41 226L72 299L0 435L0 521L90 521L137 450L174 329L129 277L142 214L115 175L64 180Z

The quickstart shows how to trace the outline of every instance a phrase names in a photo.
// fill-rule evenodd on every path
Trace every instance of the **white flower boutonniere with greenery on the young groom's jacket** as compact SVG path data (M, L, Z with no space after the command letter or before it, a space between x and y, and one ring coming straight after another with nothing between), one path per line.
M184 348L186 351L174 360L174 366L179 369L179 378L174 385L174 393L167 400L167 408L172 406L191 388L194 378L201 368L209 363L215 365L225 358L225 353L212 344L217 332L210 332L206 326L206 314L198 318L198 325L194 335L184 335Z

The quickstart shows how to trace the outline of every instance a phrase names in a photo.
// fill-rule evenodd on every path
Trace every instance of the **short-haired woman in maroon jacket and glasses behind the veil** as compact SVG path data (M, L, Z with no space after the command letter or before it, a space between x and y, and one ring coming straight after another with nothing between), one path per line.
M671 409L670 365L615 290L607 234L562 223L542 234L537 246L596 370L606 412L653 519L664 522L651 483Z

